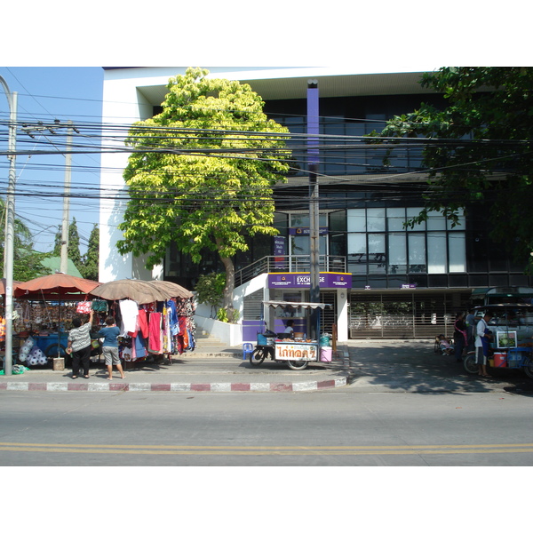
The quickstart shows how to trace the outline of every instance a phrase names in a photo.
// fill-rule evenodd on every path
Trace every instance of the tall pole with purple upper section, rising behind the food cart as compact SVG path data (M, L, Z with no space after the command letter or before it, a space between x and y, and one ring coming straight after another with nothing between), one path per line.
M307 81L307 164L309 169L310 301L320 303L320 224L318 194L318 81ZM311 314L311 338L319 338L320 309Z

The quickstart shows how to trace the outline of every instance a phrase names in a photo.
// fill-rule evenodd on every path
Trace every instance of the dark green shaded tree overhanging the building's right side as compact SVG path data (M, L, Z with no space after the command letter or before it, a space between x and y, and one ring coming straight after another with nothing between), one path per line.
M430 211L457 221L460 208L484 203L490 219L497 221L491 237L510 244L514 259L531 261L533 68L441 68L420 83L442 93L446 107L422 104L374 133L427 139L426 209L411 226Z

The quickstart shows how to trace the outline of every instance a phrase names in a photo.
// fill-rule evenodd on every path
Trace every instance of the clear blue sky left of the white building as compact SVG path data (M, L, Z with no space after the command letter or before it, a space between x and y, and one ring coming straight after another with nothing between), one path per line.
M73 124L101 123L103 69L99 67L2 67L4 78L11 92L17 92L17 119L36 124L39 121ZM0 120L9 116L7 99L0 94ZM55 234L63 217L62 193L65 188L66 157L64 154L39 155L31 152L47 148L64 152L66 127L58 129L55 135L50 131L34 132L36 139L17 133L17 155L15 189L15 212L31 230L37 251L52 251ZM62 134L61 134L62 132ZM73 145L77 134L73 133ZM84 139L85 140L85 139ZM0 137L0 149L5 147L5 136ZM2 146L4 145L4 146ZM28 154L29 152L29 154ZM99 154L72 155L71 187L87 190L84 198L71 198L68 205L68 219L76 219L80 235L80 249L86 244L94 224L99 222L98 195L91 187L99 185ZM5 190L9 162L0 159L0 187ZM44 194L46 196L44 196Z

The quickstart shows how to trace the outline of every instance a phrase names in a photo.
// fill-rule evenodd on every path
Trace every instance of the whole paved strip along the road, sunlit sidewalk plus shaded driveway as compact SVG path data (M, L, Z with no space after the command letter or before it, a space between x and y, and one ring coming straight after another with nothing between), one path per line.
M211 348L212 350L212 348ZM173 355L171 364L136 362L125 379L115 371L107 380L102 362L91 362L90 378L72 379L72 371L32 367L0 376L0 393L142 392L142 393L304 393L350 389L360 393L533 394L533 380L520 370L490 369L492 378L465 372L453 356L434 353L434 339L360 339L338 345L331 362L313 362L290 370L266 360L251 367L241 348L195 350Z

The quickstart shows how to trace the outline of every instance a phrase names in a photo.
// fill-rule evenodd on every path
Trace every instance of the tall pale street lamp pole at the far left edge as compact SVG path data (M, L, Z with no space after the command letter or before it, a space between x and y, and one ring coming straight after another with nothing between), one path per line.
M5 278L5 356L4 375L12 375L13 346L13 249L15 235L15 148L17 142L17 93L11 92L5 80L0 76L9 104L9 141L8 158L9 181L5 196L5 237L4 237L4 278Z

